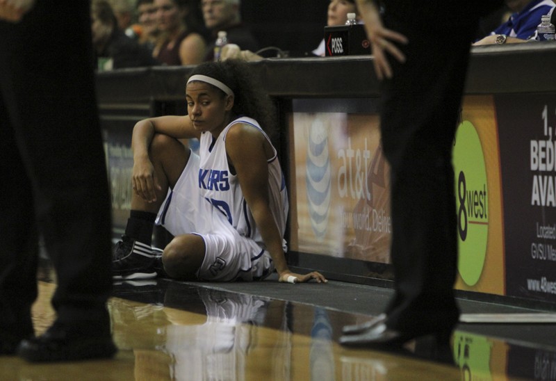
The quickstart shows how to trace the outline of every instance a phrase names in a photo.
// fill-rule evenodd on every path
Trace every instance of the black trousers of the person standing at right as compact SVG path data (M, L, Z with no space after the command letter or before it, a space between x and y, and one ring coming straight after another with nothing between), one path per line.
M432 23L389 16L388 9L384 15L387 28L409 38L402 47L407 62L391 60L393 78L383 83L381 113L382 144L391 165L395 273L386 326L405 337L449 334L459 318L453 291L452 147L476 20L444 29L448 11L436 14L439 19Z

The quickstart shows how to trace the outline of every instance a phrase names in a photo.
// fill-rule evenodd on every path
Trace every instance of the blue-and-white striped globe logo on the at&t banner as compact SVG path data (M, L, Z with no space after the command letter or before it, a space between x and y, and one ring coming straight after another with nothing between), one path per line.
M306 159L306 187L311 227L317 238L326 234L330 210L331 168L328 133L320 120L309 127Z

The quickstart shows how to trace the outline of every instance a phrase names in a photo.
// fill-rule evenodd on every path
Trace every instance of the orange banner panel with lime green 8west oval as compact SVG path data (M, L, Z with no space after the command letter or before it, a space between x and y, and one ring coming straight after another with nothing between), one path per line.
M459 237L456 288L503 295L500 155L493 97L465 97L452 161Z

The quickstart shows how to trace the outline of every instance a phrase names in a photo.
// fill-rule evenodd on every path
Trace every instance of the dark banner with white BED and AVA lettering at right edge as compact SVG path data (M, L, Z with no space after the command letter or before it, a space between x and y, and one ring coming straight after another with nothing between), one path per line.
M556 301L556 97L496 96L506 294Z

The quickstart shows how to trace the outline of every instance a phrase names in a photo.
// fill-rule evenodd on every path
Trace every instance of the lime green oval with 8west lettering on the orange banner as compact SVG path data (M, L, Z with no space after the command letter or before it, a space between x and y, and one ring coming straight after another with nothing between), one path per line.
M476 284L484 268L489 238L489 197L481 141L471 122L462 122L453 151L458 270L468 286Z

